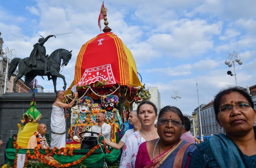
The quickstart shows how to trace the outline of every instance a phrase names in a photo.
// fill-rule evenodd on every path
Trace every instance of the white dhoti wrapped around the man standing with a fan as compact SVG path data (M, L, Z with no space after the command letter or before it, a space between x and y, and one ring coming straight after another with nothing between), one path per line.
M51 129L55 133L66 132L66 121L62 107L52 105ZM51 135L51 148L66 147L66 133L62 135L52 133Z

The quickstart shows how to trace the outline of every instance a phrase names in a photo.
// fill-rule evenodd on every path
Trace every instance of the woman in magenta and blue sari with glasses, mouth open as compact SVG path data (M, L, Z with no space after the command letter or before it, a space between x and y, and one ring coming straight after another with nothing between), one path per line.
M180 109L165 106L157 120L159 138L140 145L135 168L188 167L196 145L180 139L184 124Z

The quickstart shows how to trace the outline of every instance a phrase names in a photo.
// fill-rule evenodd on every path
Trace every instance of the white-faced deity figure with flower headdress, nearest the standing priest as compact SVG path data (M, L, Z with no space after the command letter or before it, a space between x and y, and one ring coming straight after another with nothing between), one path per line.
M91 106L94 101L88 97L84 96L82 99L77 100L77 105L80 113L76 118L76 124L92 124L91 123Z

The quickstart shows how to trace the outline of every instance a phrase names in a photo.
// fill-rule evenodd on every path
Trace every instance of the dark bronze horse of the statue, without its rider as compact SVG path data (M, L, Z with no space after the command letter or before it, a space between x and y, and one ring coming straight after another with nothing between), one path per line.
M48 79L51 79L50 76L52 76L52 82L54 85L54 92L57 92L56 90L56 81L57 81L57 77L60 77L63 79L64 82L64 86L63 89L66 90L66 80L65 77L63 75L60 74L60 67L62 67L63 65L67 65L68 61L71 59L71 51L65 50L65 49L57 49L54 52L51 53L51 55L47 58L48 60L48 67L50 67L50 73L49 74L44 74L44 63L41 60L38 60L37 62L37 66L36 67L29 67L26 63L25 63L25 59L28 58L24 58L24 59L20 59L20 58L14 58L11 61L11 66L10 66L10 70L8 72L8 79L10 80L12 73L15 71L15 69L17 68L18 64L19 64L19 68L18 68L18 75L14 78L13 81L13 91L16 91L16 83L17 81L22 77L25 76L25 84L31 89L34 90L34 88L29 85L29 82L32 81L36 76L48 76ZM61 64L61 59L63 59L62 64Z

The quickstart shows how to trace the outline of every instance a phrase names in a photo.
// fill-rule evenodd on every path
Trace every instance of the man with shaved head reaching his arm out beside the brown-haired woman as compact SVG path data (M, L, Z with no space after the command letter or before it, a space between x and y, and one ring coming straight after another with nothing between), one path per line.
M108 144L109 146L111 146L112 148L115 149L120 149L124 146L125 144L125 140L126 138L128 138L130 135L132 135L135 131L138 131L140 129L140 121L138 119L137 116L137 111L136 110L132 110L129 114L129 124L133 125L133 129L129 129L124 133L124 136L122 137L122 139L119 141L119 143L114 143L111 142L109 139L104 138L104 141L106 142L106 144ZM105 137L105 136L104 136Z

